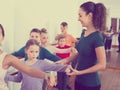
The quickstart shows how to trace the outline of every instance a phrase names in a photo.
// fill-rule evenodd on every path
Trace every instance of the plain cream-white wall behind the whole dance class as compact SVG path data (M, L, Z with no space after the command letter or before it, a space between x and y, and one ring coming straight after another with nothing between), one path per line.
M32 28L48 29L50 42L60 32L59 25L67 21L68 32L79 37L81 25L78 19L79 5L85 0L0 0L0 23L6 30L5 47L8 52L18 50L29 38ZM86 0L88 1L88 0ZM102 2L108 8L108 27L110 18L120 18L119 0L92 0ZM111 3L110 3L111 2Z

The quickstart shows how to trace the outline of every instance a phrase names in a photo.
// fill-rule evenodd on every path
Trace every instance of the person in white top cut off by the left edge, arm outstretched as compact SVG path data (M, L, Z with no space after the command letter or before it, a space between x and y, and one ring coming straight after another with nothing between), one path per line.
M0 44L2 43L4 39L4 29L2 25L0 24ZM8 90L7 85L4 81L5 74L7 72L7 69L13 66L14 68L29 74L30 76L38 77L38 78L45 78L45 74L38 70L38 69L33 69L31 67L28 67L27 65L24 65L23 63L20 62L19 59L16 57L7 54L4 52L2 49L0 49L0 90Z

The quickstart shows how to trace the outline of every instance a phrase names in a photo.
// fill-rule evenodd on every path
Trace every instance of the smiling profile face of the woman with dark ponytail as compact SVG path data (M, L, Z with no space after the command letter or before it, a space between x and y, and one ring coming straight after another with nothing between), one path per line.
M78 12L78 20L81 22L82 27L88 27L92 23L92 13L86 12L80 8Z

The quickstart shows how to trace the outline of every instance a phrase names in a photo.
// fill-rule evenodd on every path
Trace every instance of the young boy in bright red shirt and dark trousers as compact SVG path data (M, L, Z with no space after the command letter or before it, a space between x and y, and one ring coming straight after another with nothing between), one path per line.
M59 49L67 49L67 48L71 48L71 46L66 45L66 36L63 34L59 34L56 37L56 40L58 41L58 46L57 48ZM60 58L64 59L67 58L71 55L71 52L66 52L66 53L56 53L57 56L59 56ZM67 63L70 64L70 63ZM69 87L68 84L68 76L66 75L66 73L64 72L58 72L58 90L66 90L69 89L71 90L71 88Z

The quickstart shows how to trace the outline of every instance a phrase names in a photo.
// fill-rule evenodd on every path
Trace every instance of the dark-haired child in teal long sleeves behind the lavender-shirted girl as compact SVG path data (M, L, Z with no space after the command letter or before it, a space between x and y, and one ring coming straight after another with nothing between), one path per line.
M33 28L30 32L30 39L34 39L36 41L39 42L39 45L41 46L41 41L40 41L40 30L37 28ZM12 55L17 56L17 57L21 57L27 59L26 54L25 54L25 46L23 46L20 50L12 53ZM46 50L44 47L40 47L40 53L38 55L38 59L43 60L43 59L49 59L52 61L57 61L60 60L59 57L57 57L56 55L50 53L48 50Z

